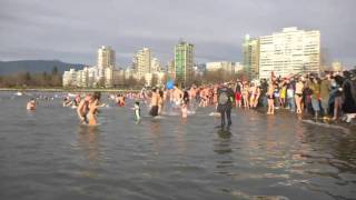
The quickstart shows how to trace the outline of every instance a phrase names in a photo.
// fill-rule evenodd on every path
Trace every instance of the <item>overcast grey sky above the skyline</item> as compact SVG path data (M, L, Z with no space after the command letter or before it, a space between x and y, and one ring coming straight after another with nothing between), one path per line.
M320 30L329 61L356 66L356 0L0 0L0 60L43 59L96 64L111 46L117 66L141 48L162 64L180 40L195 60L243 62L245 34L285 27Z

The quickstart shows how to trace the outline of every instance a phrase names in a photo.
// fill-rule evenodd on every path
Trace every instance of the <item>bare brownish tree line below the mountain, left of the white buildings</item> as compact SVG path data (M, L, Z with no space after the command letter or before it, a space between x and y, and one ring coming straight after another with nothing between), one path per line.
M58 68L55 66L50 73L30 73L30 72L17 72L12 74L0 76L1 88L47 88L47 87L61 87L62 76L58 72Z

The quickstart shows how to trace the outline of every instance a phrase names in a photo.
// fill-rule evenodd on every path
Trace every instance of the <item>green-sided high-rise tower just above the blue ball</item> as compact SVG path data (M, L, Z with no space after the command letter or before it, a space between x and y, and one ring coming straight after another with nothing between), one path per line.
M176 82L188 86L192 78L194 44L180 41L175 47Z

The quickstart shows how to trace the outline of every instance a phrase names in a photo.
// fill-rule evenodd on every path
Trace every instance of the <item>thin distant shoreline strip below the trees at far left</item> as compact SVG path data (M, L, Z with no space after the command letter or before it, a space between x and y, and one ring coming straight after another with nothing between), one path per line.
M93 92L93 91L101 91L101 92L128 92L134 91L138 92L138 89L102 89L102 88L78 88L78 89L67 89L67 88L0 88L1 91L26 91L26 92Z

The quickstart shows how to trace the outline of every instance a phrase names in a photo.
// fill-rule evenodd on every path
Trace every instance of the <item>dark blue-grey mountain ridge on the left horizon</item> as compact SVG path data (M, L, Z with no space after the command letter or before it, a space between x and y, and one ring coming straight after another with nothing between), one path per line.
M53 67L57 67L59 73L73 68L82 69L86 64L67 63L60 60L17 60L17 61L0 61L0 76L11 74L17 72L51 72Z

